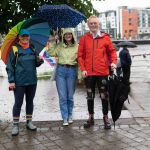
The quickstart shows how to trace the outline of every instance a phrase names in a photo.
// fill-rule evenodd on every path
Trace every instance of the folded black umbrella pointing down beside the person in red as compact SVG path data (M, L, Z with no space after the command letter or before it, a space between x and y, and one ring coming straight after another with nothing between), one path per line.
M128 94L130 91L129 85L123 82L122 77L117 77L112 75L108 80L108 92L109 92L109 102L110 110L112 115L112 120L114 122L120 117L121 110L124 102L128 99Z

